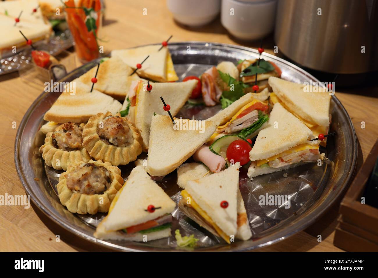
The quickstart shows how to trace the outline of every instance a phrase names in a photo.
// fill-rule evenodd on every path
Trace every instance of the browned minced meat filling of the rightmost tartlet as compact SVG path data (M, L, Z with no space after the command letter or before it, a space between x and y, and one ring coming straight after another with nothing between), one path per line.
M102 141L117 147L133 142L133 133L127 122L121 117L106 117L97 127L97 134Z

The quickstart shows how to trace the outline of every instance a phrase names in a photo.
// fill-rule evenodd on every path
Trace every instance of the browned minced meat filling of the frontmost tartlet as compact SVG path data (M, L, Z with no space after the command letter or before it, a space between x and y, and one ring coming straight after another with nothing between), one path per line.
M66 176L67 187L87 195L102 194L111 184L110 173L104 166L82 163Z

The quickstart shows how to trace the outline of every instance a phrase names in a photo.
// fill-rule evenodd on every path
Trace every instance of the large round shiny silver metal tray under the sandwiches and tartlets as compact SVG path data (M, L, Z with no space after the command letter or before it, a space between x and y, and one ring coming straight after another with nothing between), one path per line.
M188 47L190 46L190 48ZM182 42L170 43L175 70L180 80L185 76L198 76L210 66L221 61L236 63L239 59L258 58L257 50L220 43ZM276 63L282 70L282 79L296 83L316 80L313 76L297 66L263 53L262 58ZM97 60L77 68L61 81L71 81L81 76L98 63ZM44 134L38 132L43 121L43 115L51 107L59 94L42 93L31 105L22 119L15 140L15 165L17 173L32 201L49 218L71 233L88 241L124 251L175 251L175 238L159 239L150 242L132 241L102 241L93 236L96 225L105 213L96 215L78 215L68 212L59 202L55 185L63 171L57 171L46 166L39 154L43 144ZM220 110L219 105L212 108L183 107L177 117L195 115L195 119L206 119ZM322 167L307 164L289 169L287 177L283 172L257 176L251 181L247 177L247 167L240 172L240 191L247 210L253 236L248 241L236 241L231 245L221 242L211 234L204 232L197 224L175 210L172 231L180 229L181 233L194 233L199 238L197 251L242 251L252 250L285 239L308 227L329 208L346 188L356 165L357 140L356 134L344 107L336 96L332 97L332 123L330 130L336 131L327 141L325 152L328 163ZM290 138L288 138L290 140ZM144 158L147 154L142 154ZM134 163L120 166L122 177L127 179ZM158 184L164 191L178 202L181 198L180 188L176 184L176 171L169 174ZM265 195L291 196L290 208L271 205L260 206L259 196Z

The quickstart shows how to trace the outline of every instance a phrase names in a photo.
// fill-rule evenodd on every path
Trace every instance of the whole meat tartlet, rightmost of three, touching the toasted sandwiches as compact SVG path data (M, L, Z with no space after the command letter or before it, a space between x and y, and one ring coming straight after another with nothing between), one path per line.
M142 137L126 117L98 113L83 130L83 146L96 160L114 166L134 161L142 152Z

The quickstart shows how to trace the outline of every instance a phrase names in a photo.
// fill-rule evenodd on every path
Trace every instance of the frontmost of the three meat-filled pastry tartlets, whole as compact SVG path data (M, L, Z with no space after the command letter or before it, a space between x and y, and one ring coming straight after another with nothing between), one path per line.
M96 214L109 210L122 184L118 167L101 160L90 160L68 165L56 188L60 202L70 212Z

